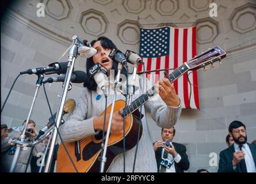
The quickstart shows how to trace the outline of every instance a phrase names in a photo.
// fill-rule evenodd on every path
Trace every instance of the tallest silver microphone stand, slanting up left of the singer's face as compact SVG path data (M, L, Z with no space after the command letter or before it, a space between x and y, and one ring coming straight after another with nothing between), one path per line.
M80 41L81 39L79 39L76 35L72 37L72 40L73 40L73 43L70 48L70 52L68 54L66 78L63 83L64 86L62 89L62 95L60 97L59 107L58 107L58 110L56 113L56 119L55 119L56 127L54 128L54 134L52 135L52 143L51 143L51 147L49 149L48 159L47 159L47 163L45 164L44 173L48 173L50 166L51 166L52 155L54 152L54 147L55 147L55 143L56 143L56 139L57 139L57 133L58 133L58 129L60 127L60 121L62 120L62 112L63 112L63 108L64 108L64 102L67 97L67 91L68 91L68 87L70 84L72 71L74 69L75 59L77 58L77 55L78 55L78 47L79 47L79 45L81 45L81 41Z

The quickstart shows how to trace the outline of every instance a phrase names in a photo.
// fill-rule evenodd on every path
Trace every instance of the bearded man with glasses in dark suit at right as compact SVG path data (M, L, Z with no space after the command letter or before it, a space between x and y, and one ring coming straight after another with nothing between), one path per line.
M228 127L234 144L220 152L219 173L256 173L256 145L247 143L246 126L232 121Z

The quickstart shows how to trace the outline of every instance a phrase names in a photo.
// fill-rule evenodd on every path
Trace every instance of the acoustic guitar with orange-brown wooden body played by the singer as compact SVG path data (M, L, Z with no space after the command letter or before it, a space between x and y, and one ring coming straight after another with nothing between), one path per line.
M178 68L176 68L171 74L166 74L166 78L173 83L179 76L185 74L188 71L197 70L198 68L204 68L205 66L219 61L226 57L226 52L220 47L213 47L206 52L201 53L193 59L185 62ZM137 142L138 130L139 130L139 111L140 106L146 104L152 97L157 94L156 87L151 87L146 93L140 95L135 101L125 107L125 101L118 100L114 106L114 112L123 109L125 113L125 151L131 150L135 147ZM106 109L107 113L110 113L112 105ZM102 112L104 114L105 112ZM142 127L139 132L139 139L142 137ZM101 143L102 134L91 135L81 140L74 141L72 143L64 143L73 160L75 167L81 173L100 171L100 155L101 155ZM109 136L108 150L106 152L107 160L104 167L104 172L108 171L110 165L117 155L123 154L123 133L119 135ZM70 158L64 150L63 144L60 144L58 157L57 157L57 172L70 173L76 172L72 165Z

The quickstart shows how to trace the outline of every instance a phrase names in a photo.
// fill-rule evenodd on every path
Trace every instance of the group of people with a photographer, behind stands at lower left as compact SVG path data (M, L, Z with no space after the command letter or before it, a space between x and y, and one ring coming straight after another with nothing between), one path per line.
M26 124L26 120L22 122L22 127ZM36 122L33 120L28 121L28 130L25 133L25 141L31 142L35 140L35 137L38 135L36 130ZM9 135L9 132L12 132L12 135ZM13 129L7 128L6 124L1 124L1 172L8 173L10 167L12 166L14 154L16 152L16 146L10 144L10 140L17 139L20 140L20 135L23 132L14 131ZM43 154L45 152L46 145L49 140L49 136L44 141L41 141L39 144L36 144L34 147L21 147L20 156L18 157L17 164L14 170L14 173L39 173L42 163ZM50 172L54 172L56 157L58 151L58 144L55 146L54 158L51 164ZM48 152L47 152L48 153ZM46 157L47 158L47 157ZM41 171L44 171L44 167Z

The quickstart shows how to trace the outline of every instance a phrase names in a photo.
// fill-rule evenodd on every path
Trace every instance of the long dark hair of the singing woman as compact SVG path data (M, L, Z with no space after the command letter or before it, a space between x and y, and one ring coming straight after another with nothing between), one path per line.
M101 46L104 49L113 49L113 48L117 49L116 45L114 45L114 43L105 36L98 37L97 40L91 41L91 47L93 47L93 45L95 44L96 41L101 41ZM83 83L83 86L87 87L90 90L96 91L97 90L97 83L94 81L94 78L91 78L89 76L89 69L92 66L94 66L94 63L93 63L93 57L91 56L91 57L87 58L87 60L86 60L86 74L87 74L88 80ZM117 67L118 67L118 63L113 60L112 69L114 70L114 76L115 77L117 75ZM125 70L124 67L123 67L123 70L121 70L121 74L124 74L124 75L127 74L127 70Z

